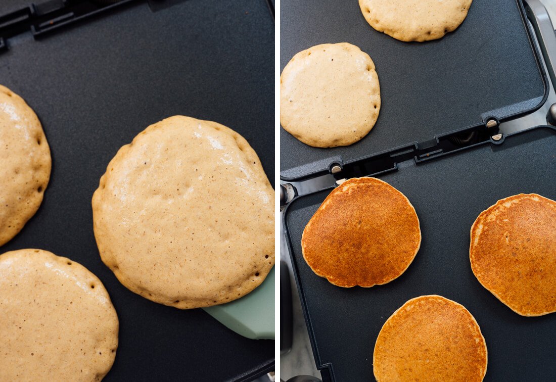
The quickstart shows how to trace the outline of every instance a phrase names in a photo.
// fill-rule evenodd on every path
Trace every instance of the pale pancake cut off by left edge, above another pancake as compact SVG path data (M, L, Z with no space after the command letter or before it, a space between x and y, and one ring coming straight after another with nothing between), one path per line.
M51 158L41 122L16 93L0 85L0 245L16 236L41 205Z

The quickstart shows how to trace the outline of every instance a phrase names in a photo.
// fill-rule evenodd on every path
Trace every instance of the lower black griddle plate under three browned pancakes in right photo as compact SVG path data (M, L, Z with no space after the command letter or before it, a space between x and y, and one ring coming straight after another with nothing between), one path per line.
M301 196L284 215L286 237L317 366L336 381L374 380L373 349L382 325L405 301L438 294L463 304L488 349L485 381L556 379L556 314L523 317L479 284L469 263L469 230L481 211L523 193L556 199L556 130L537 128L439 160L401 163L379 176L403 192L419 216L423 240L398 279L341 288L315 275L301 234L332 188ZM552 254L556 255L556 254Z

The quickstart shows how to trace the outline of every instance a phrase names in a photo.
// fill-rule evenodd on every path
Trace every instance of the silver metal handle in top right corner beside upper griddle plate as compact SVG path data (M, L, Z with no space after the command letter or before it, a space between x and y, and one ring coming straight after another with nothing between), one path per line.
M556 34L547 8L539 0L524 0L525 12L533 24L540 50L543 52L548 75L556 88Z

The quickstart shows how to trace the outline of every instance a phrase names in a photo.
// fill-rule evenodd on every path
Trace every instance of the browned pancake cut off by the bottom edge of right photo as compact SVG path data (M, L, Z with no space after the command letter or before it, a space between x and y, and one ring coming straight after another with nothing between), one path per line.
M373 371L383 381L482 381L486 343L463 305L442 296L415 297L384 323Z

